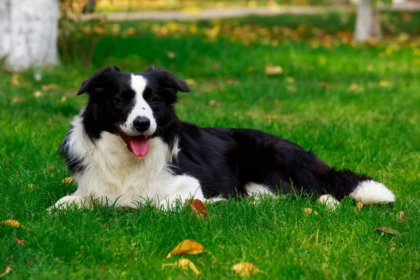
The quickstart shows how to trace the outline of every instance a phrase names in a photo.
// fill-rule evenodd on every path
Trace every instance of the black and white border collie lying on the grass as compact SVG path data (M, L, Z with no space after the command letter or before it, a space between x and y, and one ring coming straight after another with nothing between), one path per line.
M258 130L200 128L176 116L185 81L153 66L125 73L116 66L85 80L89 98L59 147L77 190L55 207L92 200L117 207L173 207L207 201L309 193L335 206L344 197L393 202L372 178L326 165L297 144Z

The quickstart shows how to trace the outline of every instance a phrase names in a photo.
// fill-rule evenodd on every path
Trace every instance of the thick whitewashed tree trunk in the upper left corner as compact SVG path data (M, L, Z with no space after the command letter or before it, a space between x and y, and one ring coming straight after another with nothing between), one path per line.
M6 69L56 64L57 0L0 0L0 57Z

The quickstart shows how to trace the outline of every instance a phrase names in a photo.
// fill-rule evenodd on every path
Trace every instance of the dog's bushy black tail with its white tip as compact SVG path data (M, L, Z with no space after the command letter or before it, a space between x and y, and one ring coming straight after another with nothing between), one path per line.
M330 169L324 180L327 195L332 195L337 200L351 197L363 204L387 204L395 201L395 195L384 184L347 169Z

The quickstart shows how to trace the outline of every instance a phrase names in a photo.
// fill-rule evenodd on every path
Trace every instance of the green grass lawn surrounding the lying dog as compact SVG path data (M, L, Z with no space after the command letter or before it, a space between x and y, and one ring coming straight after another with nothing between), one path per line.
M237 262L253 262L265 272L255 279L420 279L418 38L371 46L340 43L339 37L327 37L332 43L291 40L286 34L276 43L232 42L226 33L162 36L156 28L99 38L89 67L45 69L41 80L31 71L1 73L0 221L17 220L27 228L0 225L0 274L11 267L5 279L225 279L237 277L230 269ZM235 30L232 37L251 36ZM256 128L295 141L330 165L385 183L397 200L361 211L351 200L328 211L299 196L218 202L208 206L206 218L188 209L151 208L50 215L48 207L76 190L62 182L71 174L57 155L69 121L86 101L76 92L92 71L108 64L124 71L163 66L193 90L180 94L181 119ZM268 76L269 64L283 72ZM318 215L304 215L305 208ZM396 221L400 211L407 221ZM379 225L401 235L374 231ZM199 276L162 269L179 259L165 256L183 239L214 254L186 256Z

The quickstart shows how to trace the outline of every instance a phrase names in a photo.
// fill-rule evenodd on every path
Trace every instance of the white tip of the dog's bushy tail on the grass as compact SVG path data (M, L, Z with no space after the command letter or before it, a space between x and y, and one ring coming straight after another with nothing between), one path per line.
M373 180L363 181L358 184L353 193L349 195L363 204L389 203L395 201L395 195L381 183Z

